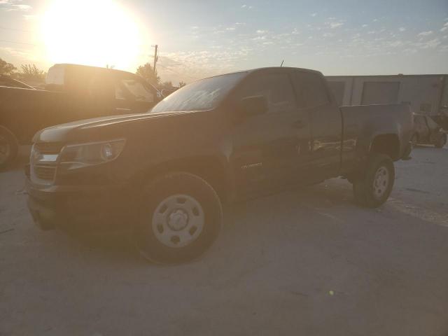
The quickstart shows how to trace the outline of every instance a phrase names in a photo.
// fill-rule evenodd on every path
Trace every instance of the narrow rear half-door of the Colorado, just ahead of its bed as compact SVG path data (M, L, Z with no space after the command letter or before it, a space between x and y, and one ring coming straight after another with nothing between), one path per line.
M297 70L293 83L298 97L302 97L302 113L311 125L312 168L307 172L311 181L327 179L339 174L342 117L330 99L328 87L321 73Z

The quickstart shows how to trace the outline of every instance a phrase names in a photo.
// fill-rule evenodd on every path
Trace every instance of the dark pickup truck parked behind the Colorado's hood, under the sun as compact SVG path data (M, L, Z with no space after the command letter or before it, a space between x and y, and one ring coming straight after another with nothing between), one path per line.
M146 112L159 97L155 87L134 73L76 64L52 66L45 90L0 86L0 169L15 159L20 144L31 143L38 130L74 120Z

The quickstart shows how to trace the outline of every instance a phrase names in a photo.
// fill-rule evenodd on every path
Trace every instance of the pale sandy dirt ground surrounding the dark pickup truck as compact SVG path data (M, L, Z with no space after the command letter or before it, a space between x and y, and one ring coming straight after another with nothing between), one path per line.
M412 156L380 209L341 179L265 197L175 267L38 230L3 172L0 335L448 335L448 149Z

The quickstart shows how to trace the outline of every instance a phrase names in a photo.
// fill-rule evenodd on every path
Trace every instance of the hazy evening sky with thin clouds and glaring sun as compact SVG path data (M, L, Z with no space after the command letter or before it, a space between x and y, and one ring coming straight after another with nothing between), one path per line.
M153 62L174 84L261 66L325 75L448 73L448 0L0 0L0 57Z

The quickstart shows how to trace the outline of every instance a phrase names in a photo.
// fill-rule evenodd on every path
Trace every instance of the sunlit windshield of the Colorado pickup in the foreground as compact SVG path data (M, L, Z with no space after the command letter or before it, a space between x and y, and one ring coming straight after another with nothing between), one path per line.
M166 111L205 111L214 109L246 73L230 73L198 80L170 94L154 106L153 113Z

